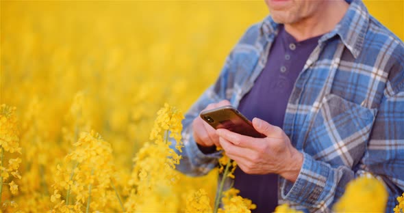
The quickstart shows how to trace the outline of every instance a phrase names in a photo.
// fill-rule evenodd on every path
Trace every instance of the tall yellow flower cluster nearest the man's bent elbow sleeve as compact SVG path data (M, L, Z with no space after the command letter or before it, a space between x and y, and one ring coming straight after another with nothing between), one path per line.
M125 203L129 212L175 211L171 195L173 184L179 179L174 169L181 156L171 149L169 139L175 139L177 149L181 150L183 118L181 111L168 104L164 104L164 108L157 112L150 136L154 141L144 144L134 158L134 169L129 181L129 185L134 188ZM164 205L156 205L159 202Z

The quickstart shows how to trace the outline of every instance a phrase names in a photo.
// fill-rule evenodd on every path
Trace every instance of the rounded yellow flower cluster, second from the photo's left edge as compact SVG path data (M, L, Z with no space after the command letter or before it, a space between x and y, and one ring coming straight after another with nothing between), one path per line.
M73 146L75 150L57 166L51 195L51 202L55 203L53 211L105 209L107 203L117 199L112 182L115 169L110 143L92 131L81 132Z

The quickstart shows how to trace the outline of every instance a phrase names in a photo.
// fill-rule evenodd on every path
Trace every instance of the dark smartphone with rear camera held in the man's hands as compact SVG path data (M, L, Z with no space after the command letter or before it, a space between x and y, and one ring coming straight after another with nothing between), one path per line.
M225 128L231 132L244 134L255 138L264 138L257 132L253 124L233 106L220 106L216 109L202 111L199 116L214 129Z

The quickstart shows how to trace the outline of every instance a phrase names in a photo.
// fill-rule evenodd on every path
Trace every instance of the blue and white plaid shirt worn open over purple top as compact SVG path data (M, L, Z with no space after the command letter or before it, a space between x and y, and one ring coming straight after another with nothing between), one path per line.
M203 175L216 167L220 152L199 150L192 120L212 102L238 106L263 70L278 27L270 16L250 27L188 111L180 171ZM296 182L280 177L279 203L327 212L349 181L370 171L386 184L392 211L404 190L404 45L362 1L353 1L318 41L294 84L283 130L304 160Z

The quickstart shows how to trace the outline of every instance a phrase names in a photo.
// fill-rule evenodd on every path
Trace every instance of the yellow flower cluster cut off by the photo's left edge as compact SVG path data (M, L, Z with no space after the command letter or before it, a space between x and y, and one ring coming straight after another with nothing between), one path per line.
M18 168L21 164L21 158L16 157L14 153L21 154L18 137L18 123L16 119L16 107L1 104L0 106L0 203L3 203L3 186L9 186L9 193L6 193L6 198L12 198L18 194L18 185L12 180L16 178L21 180L21 175ZM7 154L7 155L6 155ZM7 201L1 208L7 208L10 204L12 208L16 207L14 201Z

